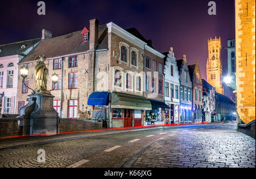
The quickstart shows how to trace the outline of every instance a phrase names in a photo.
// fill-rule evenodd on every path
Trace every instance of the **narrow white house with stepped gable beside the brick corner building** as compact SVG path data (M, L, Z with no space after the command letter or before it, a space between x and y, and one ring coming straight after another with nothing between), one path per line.
M180 119L180 76L177 69L176 58L173 48L170 48L169 52L163 53L166 55L164 58L164 83L166 84L166 90L164 99L170 106L170 109L165 111L165 120L170 123L179 123Z

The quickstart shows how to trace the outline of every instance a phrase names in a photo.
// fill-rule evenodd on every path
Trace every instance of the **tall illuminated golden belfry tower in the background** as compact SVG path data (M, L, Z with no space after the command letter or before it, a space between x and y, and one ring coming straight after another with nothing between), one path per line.
M207 82L224 94L222 88L221 39L208 39Z

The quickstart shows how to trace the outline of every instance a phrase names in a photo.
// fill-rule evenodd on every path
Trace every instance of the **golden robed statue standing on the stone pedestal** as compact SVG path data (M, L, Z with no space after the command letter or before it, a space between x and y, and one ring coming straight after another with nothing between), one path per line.
M35 77L36 77L36 93L41 93L42 91L47 91L47 78L48 78L48 69L44 61L46 57L38 56L36 57L38 63L35 66Z

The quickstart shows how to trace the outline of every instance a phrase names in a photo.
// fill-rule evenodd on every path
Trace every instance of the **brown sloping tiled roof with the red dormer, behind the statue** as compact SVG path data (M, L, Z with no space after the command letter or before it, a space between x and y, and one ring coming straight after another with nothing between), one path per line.
M105 30L106 25L98 27L98 37L101 40L99 41L100 45L97 49L108 48L108 33L104 33ZM45 55L47 58L52 58L88 51L89 41L82 42L81 32L82 30L41 41L36 48L32 49L32 51L20 61L20 63L34 61L35 56L39 55Z

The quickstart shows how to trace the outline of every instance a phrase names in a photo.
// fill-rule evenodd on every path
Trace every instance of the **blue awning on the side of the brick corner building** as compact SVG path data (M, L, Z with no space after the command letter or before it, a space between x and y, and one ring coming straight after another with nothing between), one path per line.
M109 92L93 92L89 95L88 105L109 105Z

